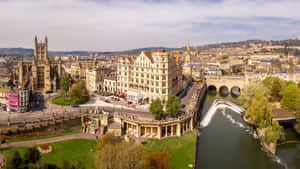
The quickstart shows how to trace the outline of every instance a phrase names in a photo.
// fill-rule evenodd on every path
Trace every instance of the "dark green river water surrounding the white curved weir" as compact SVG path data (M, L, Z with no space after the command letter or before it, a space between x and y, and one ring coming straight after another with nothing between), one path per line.
M202 115L214 99L206 97ZM286 129L286 137L299 139L291 128ZM278 146L276 155L271 155L253 129L229 109L218 109L211 123L200 129L197 151L196 169L300 169L300 144Z

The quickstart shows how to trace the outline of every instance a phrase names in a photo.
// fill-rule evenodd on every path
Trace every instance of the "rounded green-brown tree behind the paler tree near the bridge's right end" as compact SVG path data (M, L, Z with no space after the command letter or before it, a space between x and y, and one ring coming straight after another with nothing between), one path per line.
M278 77L268 76L262 83L271 91L272 100L280 100L280 91L282 89L282 80Z

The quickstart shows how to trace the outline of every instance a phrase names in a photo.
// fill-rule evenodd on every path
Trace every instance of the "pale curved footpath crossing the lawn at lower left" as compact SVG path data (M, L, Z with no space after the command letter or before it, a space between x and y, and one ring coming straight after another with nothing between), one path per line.
M9 148L9 147L24 147L24 146L33 146L33 145L39 145L39 144L48 144L48 143L59 142L59 141L66 141L66 140L73 140L73 139L96 140L96 135L78 133L78 134L72 134L72 135L67 135L67 136L59 136L59 137L52 137L52 138L40 139L40 140L12 142L12 143L7 143L7 144L1 144L0 145L0 149L1 148Z

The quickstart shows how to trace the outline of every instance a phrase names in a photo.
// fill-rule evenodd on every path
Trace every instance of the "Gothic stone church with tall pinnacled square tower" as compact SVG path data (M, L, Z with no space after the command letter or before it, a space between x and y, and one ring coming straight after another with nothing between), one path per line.
M48 39L34 41L34 56L31 63L19 60L19 86L30 87L32 90L52 91L59 88L59 80L62 75L62 63L50 60L48 56Z

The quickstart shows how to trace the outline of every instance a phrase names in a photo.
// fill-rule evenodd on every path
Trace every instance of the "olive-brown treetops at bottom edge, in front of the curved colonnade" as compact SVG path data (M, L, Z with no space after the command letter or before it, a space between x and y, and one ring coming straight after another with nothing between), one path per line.
M151 152L134 141L125 142L108 133L98 142L95 164L98 169L169 169L170 157L167 151Z

